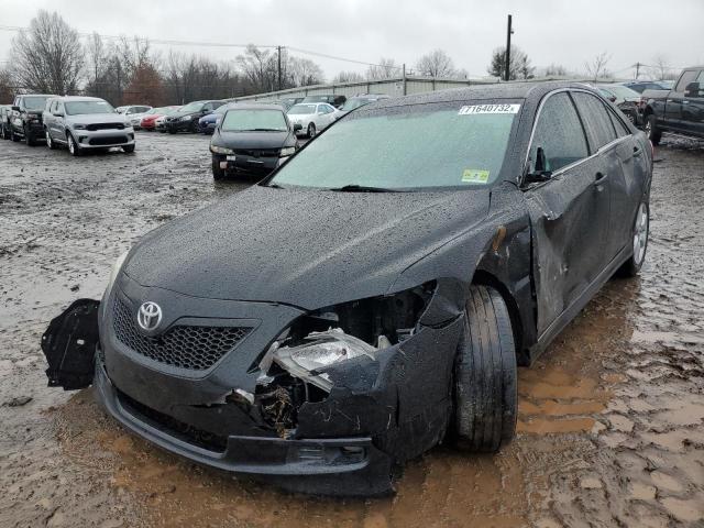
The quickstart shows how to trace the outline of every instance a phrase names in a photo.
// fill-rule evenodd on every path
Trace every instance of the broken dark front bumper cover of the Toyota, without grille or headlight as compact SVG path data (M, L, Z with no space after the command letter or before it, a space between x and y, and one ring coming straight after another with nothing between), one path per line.
M97 314L100 340L92 340L98 350L92 383L99 402L124 427L199 464L294 492L388 494L393 468L440 442L450 421L451 373L463 328L455 289L450 284L436 293L417 333L405 341L374 358L327 367L332 389L322 400L302 403L295 430L284 437L263 419L258 404L223 395L234 387L255 392L261 372L249 365L258 364L282 328L304 314L289 306L193 298L142 287L121 274ZM118 338L111 308L117 299L133 310L145 299L168 307L164 328L177 322L246 324L252 332L212 367L187 371L141 355ZM47 333L57 346L64 342L58 331ZM76 337L74 331L73 341Z

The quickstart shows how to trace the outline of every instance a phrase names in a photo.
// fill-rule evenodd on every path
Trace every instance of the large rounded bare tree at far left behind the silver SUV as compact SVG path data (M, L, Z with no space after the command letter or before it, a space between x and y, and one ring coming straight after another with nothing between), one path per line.
M70 94L78 89L84 48L78 33L58 13L41 10L12 40L12 75L24 89L45 94Z

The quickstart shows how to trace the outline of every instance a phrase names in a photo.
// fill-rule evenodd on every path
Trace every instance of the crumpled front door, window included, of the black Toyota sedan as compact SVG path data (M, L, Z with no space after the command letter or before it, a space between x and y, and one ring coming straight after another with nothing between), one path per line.
M591 155L584 127L568 91L547 96L529 148L529 172L538 147L548 179L524 187L532 239L532 274L538 300L538 336L561 328L558 318L581 308L606 264L609 197L606 169Z

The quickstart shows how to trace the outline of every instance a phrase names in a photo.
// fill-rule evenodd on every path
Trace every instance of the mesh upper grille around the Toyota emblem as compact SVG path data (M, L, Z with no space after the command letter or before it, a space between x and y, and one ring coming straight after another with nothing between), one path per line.
M136 314L114 300L113 328L118 340L134 352L167 365L204 371L234 349L252 330L249 327L175 326L157 337L144 336Z

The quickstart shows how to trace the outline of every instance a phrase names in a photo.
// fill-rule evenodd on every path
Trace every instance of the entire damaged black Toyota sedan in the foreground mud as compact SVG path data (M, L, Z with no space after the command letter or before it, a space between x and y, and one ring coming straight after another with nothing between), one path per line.
M494 452L530 365L646 255L652 151L579 84L378 101L145 235L43 338L135 433L293 491L375 495Z

